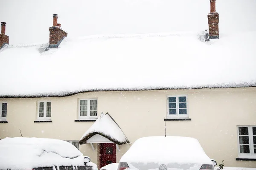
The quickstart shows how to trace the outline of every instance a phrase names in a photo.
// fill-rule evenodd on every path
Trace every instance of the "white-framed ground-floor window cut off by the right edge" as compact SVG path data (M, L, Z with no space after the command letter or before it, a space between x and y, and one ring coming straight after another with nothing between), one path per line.
M256 125L238 126L239 158L256 158Z

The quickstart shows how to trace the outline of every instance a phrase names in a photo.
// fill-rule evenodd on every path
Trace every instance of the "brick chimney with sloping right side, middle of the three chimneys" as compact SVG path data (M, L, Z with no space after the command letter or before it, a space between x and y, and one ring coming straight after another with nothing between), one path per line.
M67 32L61 29L61 24L58 24L57 14L53 14L53 26L49 28L49 31L49 48L57 48L61 41L67 37Z

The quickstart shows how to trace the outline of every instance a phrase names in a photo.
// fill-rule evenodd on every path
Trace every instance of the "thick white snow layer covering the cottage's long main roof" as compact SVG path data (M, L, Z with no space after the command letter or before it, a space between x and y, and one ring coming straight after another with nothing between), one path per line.
M0 96L256 86L256 31L220 37L201 42L195 32L180 32L65 38L49 51L7 45L0 50Z

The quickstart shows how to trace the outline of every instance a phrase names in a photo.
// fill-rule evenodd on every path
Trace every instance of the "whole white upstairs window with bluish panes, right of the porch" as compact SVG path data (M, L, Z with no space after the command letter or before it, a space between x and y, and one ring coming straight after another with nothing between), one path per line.
M167 96L167 118L188 118L187 96Z

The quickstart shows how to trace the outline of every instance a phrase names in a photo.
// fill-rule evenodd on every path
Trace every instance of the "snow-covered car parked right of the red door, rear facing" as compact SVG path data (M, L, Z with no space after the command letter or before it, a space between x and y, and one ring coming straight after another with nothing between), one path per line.
M138 139L122 156L117 170L214 170L197 139L151 136Z

